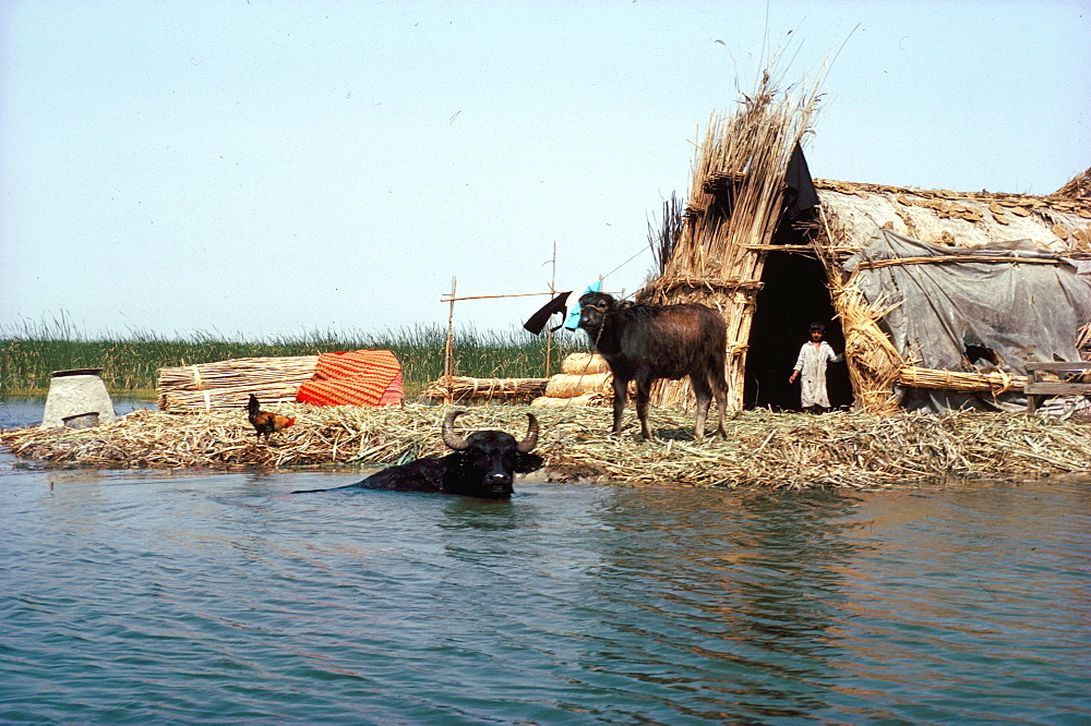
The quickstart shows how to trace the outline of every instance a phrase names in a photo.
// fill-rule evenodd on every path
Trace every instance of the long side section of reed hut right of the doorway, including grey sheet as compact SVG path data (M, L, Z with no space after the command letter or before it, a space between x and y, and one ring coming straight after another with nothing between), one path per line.
M816 186L820 204L801 231L858 406L1020 410L1027 362L1080 360L1091 198Z

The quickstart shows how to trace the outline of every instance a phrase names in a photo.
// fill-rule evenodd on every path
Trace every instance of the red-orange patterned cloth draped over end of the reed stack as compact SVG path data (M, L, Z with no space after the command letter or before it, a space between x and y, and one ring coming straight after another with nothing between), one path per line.
M401 401L401 365L388 350L319 355L296 400L315 406L389 406Z

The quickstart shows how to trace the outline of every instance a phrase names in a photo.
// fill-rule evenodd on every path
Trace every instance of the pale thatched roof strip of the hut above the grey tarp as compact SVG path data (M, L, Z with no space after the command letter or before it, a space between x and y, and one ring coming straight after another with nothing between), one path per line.
M863 245L876 227L958 247L1032 240L1043 252L1091 257L1091 197L950 192L816 179L838 245Z

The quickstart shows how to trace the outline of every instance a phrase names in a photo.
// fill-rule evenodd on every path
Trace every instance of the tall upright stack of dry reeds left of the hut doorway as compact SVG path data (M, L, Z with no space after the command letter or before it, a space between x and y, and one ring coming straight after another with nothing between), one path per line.
M781 218L784 178L808 131L817 85L780 92L769 71L730 117L714 116L694 159L690 201L680 226L664 221L661 276L637 293L650 304L700 303L728 324L729 408L743 404L743 373L754 299ZM669 250L664 249L669 245ZM662 382L652 402L688 404L687 380Z

